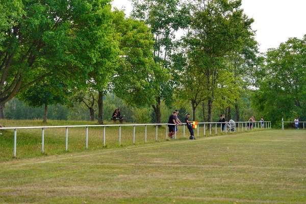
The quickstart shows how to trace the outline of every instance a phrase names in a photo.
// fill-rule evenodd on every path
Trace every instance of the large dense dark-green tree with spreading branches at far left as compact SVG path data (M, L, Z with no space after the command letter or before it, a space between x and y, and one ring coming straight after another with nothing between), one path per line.
M6 1L1 4L0 117L17 93L46 76L86 86L112 49L109 0ZM99 39L99 40L97 40Z

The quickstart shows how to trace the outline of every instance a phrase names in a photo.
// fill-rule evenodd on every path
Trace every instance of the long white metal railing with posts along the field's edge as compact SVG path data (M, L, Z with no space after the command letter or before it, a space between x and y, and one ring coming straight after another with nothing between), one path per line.
M240 132L240 124L241 124L241 130L243 132L243 128L245 127L245 131L247 131L247 123L249 122L235 122L236 124L238 124L238 132ZM253 128L259 128L260 124L262 122L251 122ZM265 125L263 125L263 128L269 128L271 129L271 122L270 121L264 121L263 122ZM198 122L199 124L203 124L203 131L204 131L204 136L206 136L206 125L209 125L209 129L210 129L210 135L212 135L212 125L216 126L215 129L215 134L217 134L217 124L225 124L226 122ZM235 129L234 132L236 131L236 124L235 124ZM243 124L245 124L245 126L243 126ZM104 131L103 131L103 146L106 146L106 133L105 133L105 129L108 126L119 126L119 145L121 145L121 126L134 126L133 129L133 144L135 144L135 128L136 126L145 126L145 142L147 140L147 125L156 125L156 141L158 140L158 126L159 125L166 125L166 139L168 139L168 125L174 125L174 124L167 124L167 123L161 123L161 124L113 124L113 125L66 125L66 126L33 126L33 127L2 127L0 128L0 130L14 130L14 157L16 157L16 144L17 144L17 130L21 130L21 129L41 129L42 133L41 133L41 151L42 153L44 153L44 130L48 129L48 128L66 128L66 151L68 151L68 128L73 128L73 127L86 127L86 149L88 149L88 127L103 127ZM185 125L186 123L183 123L183 136L185 138ZM222 125L220 125L220 130L222 132ZM227 132L232 132L232 125L229 124L229 131L227 131L226 127L225 127L225 133ZM197 128L197 136L199 137L199 126ZM176 131L174 134L174 138L176 139Z

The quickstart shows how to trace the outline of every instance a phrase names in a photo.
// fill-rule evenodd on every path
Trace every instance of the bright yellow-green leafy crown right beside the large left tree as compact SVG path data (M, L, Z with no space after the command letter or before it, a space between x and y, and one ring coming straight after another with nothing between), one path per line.
M159 69L153 60L153 36L144 22L125 18L118 10L114 11L114 16L120 57L111 89L126 104L145 107L154 103L152 83Z

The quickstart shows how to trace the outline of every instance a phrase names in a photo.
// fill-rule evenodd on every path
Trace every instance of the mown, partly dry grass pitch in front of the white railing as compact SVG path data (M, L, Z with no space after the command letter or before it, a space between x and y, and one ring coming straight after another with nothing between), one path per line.
M0 203L306 203L306 131L2 161Z

